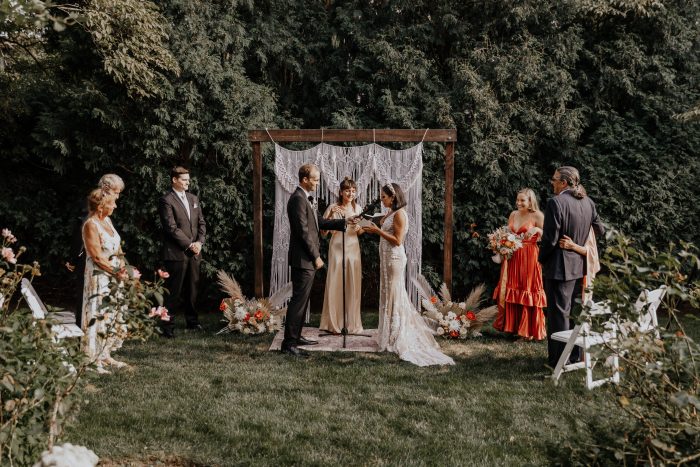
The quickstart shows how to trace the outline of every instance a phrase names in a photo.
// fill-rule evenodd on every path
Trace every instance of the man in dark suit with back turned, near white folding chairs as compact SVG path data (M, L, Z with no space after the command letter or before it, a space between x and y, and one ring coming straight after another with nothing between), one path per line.
M554 368L565 344L553 341L551 336L574 327L570 318L571 307L577 298L581 298L583 276L586 275L586 257L560 248L559 240L567 235L573 242L585 245L591 226L598 236L603 235L605 229L598 219L595 204L580 184L578 170L570 166L559 167L551 183L556 196L547 201L544 211L539 261L547 295L548 363ZM576 362L580 358L580 348L575 347L570 361Z

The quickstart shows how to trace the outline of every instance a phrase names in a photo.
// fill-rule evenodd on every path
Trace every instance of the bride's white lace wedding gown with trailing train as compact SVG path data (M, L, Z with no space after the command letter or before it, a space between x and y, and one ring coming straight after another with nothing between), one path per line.
M395 215L389 214L382 224L382 230L392 235ZM379 258L379 350L395 352L402 360L418 366L454 365L454 360L440 351L432 331L408 297L403 245L394 246L380 238Z

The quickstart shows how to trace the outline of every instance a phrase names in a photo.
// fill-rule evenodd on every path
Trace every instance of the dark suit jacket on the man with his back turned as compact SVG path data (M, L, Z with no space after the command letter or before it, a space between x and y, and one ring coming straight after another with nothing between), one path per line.
M591 226L597 236L605 233L588 196L576 199L566 190L547 201L539 254L545 279L570 281L586 275L586 257L573 250L562 250L559 240L568 235L578 245L585 245Z

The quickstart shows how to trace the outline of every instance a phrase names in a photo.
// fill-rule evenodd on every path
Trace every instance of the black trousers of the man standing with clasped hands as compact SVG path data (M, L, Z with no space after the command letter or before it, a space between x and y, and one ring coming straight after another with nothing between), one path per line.
M199 324L197 310L197 286L199 285L199 263L195 257L184 261L164 261L165 270L170 277L165 282L168 294L165 296L165 308L168 309L170 321L161 321L164 330L175 328L175 317L184 314L187 326Z

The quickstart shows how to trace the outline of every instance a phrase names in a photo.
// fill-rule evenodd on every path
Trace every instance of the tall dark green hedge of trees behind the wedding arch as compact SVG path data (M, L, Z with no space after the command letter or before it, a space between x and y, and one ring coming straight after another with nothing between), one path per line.
M673 118L700 101L697 2L168 0L143 15L131 2L104 5L93 28L48 30L37 60L15 49L0 71L3 167L17 174L0 187L0 220L31 231L45 264L65 257L67 219L109 171L127 184L115 214L125 251L157 267L157 199L167 170L185 164L209 226L205 276L225 269L250 289L246 132L275 126L456 128L460 287L495 283L474 234L502 225L523 186L544 201L561 164L577 166L603 218L642 244L697 240L700 127ZM138 49L166 34L167 50L127 60L114 48L117 37ZM140 78L149 84L132 85ZM426 271L442 269L443 157L426 145ZM37 197L31 213L11 209ZM375 270L375 252L365 259Z

